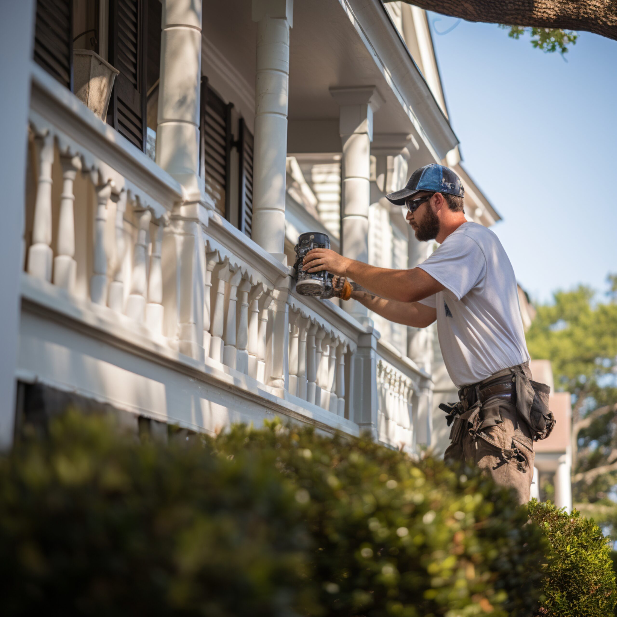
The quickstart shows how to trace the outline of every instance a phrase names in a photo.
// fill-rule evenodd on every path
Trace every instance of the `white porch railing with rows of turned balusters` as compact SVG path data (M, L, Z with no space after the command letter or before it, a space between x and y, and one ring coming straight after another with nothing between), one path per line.
M180 184L49 75L33 75L28 275L203 358L204 371L412 449L426 375L333 303L299 296L292 269L212 208L184 217Z

